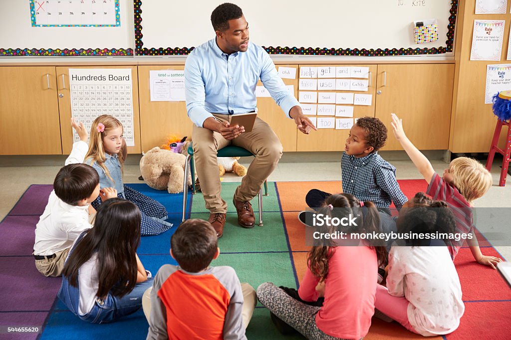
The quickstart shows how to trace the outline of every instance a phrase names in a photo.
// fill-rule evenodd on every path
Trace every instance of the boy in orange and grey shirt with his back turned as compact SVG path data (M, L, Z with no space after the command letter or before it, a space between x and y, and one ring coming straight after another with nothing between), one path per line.
M170 254L179 266L165 264L144 294L148 339L246 339L255 290L229 266L210 267L220 253L213 226L183 222L171 238Z

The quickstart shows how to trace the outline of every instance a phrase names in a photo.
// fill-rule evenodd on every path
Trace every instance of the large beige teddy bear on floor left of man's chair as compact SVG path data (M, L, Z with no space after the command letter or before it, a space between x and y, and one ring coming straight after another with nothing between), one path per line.
M153 189L182 192L185 160L184 155L155 147L142 156L140 172ZM188 182L191 183L190 178Z

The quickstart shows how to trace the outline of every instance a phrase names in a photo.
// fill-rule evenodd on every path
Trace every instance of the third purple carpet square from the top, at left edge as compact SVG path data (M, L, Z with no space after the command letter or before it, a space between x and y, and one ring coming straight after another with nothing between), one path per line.
M0 312L50 310L61 283L39 273L33 256L0 257Z

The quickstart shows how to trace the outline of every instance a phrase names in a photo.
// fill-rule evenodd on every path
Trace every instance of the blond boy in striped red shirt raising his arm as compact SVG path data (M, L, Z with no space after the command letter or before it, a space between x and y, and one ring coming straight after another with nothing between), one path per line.
M392 130L396 139L424 176L428 183L426 193L434 200L445 201L453 209L456 218L456 232L463 234L472 234L472 238L467 238L470 251L474 259L480 263L491 266L496 269L496 264L502 260L495 256L485 256L481 253L477 238L474 234L474 224L472 220L472 202L482 197L492 186L492 176L489 171L478 161L459 157L449 163L449 167L444 171L444 176L440 177L435 173L433 166L406 136L403 130L402 119L392 113ZM451 241L449 253L454 260L458 250L463 245L464 239Z

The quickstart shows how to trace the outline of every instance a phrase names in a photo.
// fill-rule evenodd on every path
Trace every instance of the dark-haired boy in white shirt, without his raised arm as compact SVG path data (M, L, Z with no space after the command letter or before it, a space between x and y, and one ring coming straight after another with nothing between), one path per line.
M99 176L87 164L69 164L60 169L48 204L35 229L34 258L37 270L44 276L60 276L75 239L92 227L89 204L100 195ZM117 197L117 190L101 190L102 200Z

